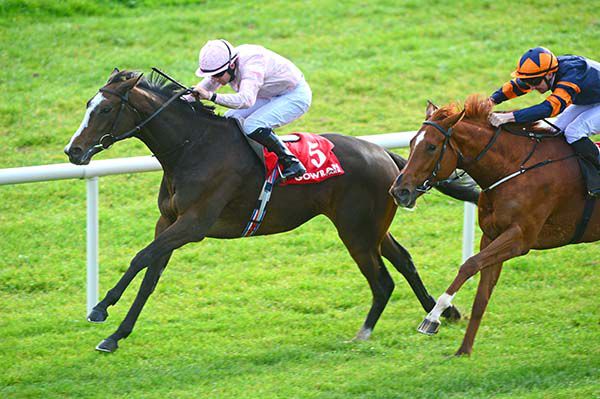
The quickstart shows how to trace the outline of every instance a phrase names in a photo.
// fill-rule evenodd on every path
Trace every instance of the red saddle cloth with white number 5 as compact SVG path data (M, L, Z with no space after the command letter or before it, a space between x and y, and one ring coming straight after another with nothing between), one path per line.
M333 176L344 174L337 157L333 153L333 143L326 138L311 133L291 133L281 136L289 150L298 157L306 168L306 173L280 185L319 183ZM267 176L277 166L277 155L263 148ZM281 172L281 166L279 166Z

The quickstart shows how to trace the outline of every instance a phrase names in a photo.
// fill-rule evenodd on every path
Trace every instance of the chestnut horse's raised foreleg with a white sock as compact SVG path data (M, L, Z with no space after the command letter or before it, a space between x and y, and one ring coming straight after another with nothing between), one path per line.
M526 254L530 246L525 242L524 237L523 229L519 225L513 225L491 241L485 249L467 259L460 267L452 284L438 298L433 310L425 317L417 330L427 335L437 333L441 324L440 315L447 307L451 306L454 295L462 285L471 276L486 267L502 264L508 259ZM482 246L483 240L482 238Z

